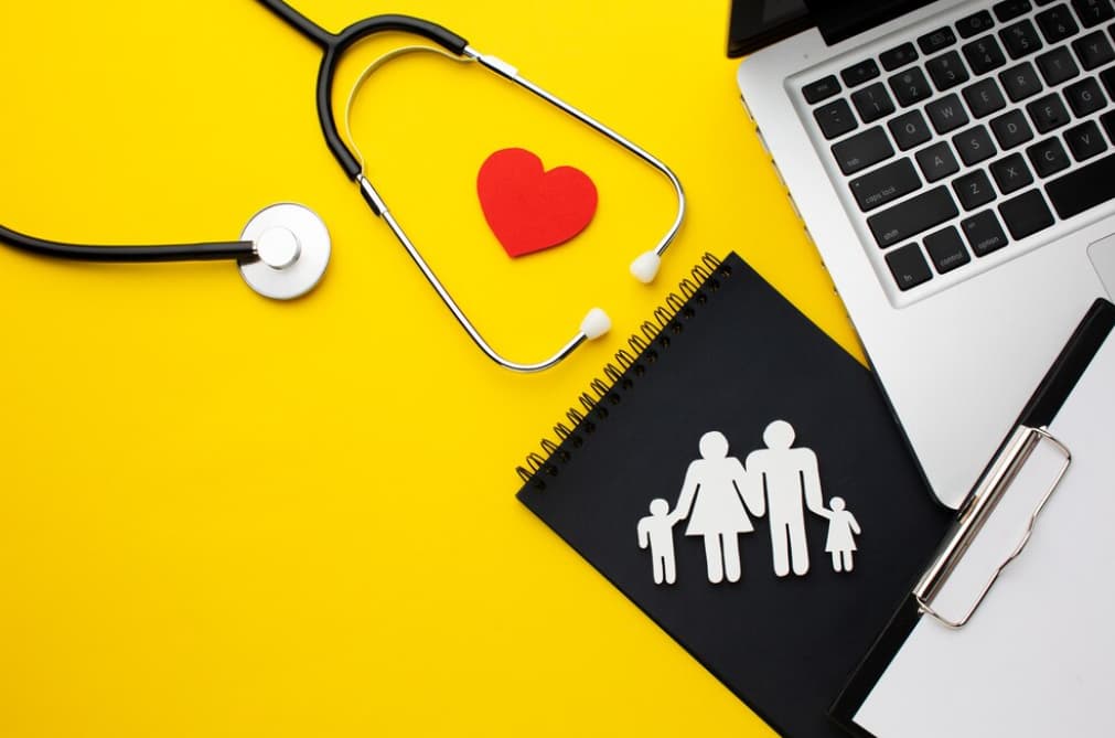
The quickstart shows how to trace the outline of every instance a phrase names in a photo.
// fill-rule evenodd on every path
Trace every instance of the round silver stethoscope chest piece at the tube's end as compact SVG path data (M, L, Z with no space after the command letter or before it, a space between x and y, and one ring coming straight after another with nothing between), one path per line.
M258 259L242 261L248 285L273 300L293 300L312 290L329 265L329 230L308 207L271 205L256 213L241 234L255 244Z

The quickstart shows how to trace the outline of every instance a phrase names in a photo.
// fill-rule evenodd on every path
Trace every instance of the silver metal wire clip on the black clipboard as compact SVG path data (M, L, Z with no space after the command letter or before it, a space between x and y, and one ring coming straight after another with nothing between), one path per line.
M999 564L998 569L996 569L991 574L991 577L988 580L987 584L983 585L983 589L980 590L979 595L976 598L976 601L972 603L971 608L968 609L968 612L963 615L963 618L959 620L951 620L946 615L942 615L933 609L933 599L940 592L944 582L948 581L949 575L963 557L969 546L971 546L976 535L979 533L980 528L983 527L983 524L995 511L999 501L1002 498L1002 495L1008 488L1010 488L1011 483L1014 483L1019 472L1026 465L1026 462L1034 453L1034 449L1037 448L1038 444L1041 441L1051 444L1065 456L1065 462L1060 466L1056 477L1054 477L1049 488L1035 506L1034 512L1030 513L1022 537L1018 541L1018 544L1015 546L1015 550L1010 553L1010 555L1007 556L1007 559ZM960 513L958 527L956 528L952 537L948 541L948 543L946 543L941 553L933 562L933 565L930 566L922 575L918 586L914 588L913 598L918 603L918 609L927 615L931 615L938 622L948 628L963 628L963 625L971 620L972 615L976 614L976 610L979 609L983 599L987 596L988 591L995 584L996 580L999 579L999 574L1002 573L1002 570L1005 570L1010 562L1017 559L1022 552L1022 548L1026 547L1026 544L1030 540L1030 535L1034 533L1034 526L1037 523L1038 515L1041 514L1046 503L1049 502L1049 497L1057 488L1057 485L1060 484L1060 480L1068 470L1068 466L1072 462L1073 454L1069 451L1068 447L1050 435L1045 427L1031 428L1029 426L1019 426L1016 428L1015 433L1002 447L1002 450L995 458L987 473L976 486L971 498Z

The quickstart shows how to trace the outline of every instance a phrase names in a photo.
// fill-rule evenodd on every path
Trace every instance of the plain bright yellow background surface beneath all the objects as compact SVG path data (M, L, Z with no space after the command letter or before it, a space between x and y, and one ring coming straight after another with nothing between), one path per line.
M297 201L333 261L284 304L226 263L0 250L0 735L767 735L514 497L514 467L707 250L854 350L739 106L728 2L298 4L330 30L429 17L511 61L677 171L682 234L638 284L627 263L672 217L653 171L477 67L374 76L369 175L492 341L533 360L590 307L613 319L558 369L508 373L342 176L318 51L264 8L2 3L0 222L224 240ZM584 234L503 254L474 183L505 146L593 176Z

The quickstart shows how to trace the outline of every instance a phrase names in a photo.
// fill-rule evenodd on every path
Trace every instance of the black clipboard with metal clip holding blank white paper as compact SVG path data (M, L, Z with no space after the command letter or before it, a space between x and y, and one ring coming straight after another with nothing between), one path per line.
M854 735L1115 732L1113 327L1097 300L832 707Z

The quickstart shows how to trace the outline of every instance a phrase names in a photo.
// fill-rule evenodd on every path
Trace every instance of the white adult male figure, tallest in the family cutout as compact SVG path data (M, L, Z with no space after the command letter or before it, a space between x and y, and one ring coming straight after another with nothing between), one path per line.
M791 448L794 427L775 420L763 431L766 448L747 455L747 473L758 477L766 493L770 523L774 573L802 576L809 571L809 547L805 537L805 507L828 517L821 494L817 456L808 448ZM803 506L804 502L804 506Z

